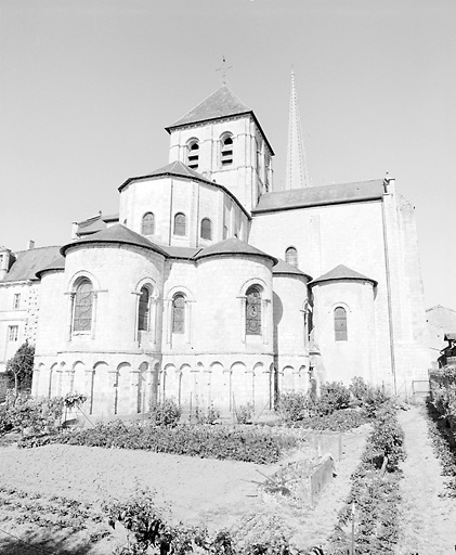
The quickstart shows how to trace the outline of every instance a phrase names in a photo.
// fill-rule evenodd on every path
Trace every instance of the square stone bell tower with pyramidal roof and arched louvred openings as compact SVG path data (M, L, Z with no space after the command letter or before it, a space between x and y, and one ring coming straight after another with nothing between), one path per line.
M247 210L271 191L272 146L253 111L226 83L166 130L170 163L225 186Z

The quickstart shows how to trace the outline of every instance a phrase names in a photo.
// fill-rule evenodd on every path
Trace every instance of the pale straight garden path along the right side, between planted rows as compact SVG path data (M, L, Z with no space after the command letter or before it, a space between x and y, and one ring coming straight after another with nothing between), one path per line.
M445 496L445 478L428 436L424 405L399 414L407 459L401 467L401 535L398 555L454 554L456 500Z

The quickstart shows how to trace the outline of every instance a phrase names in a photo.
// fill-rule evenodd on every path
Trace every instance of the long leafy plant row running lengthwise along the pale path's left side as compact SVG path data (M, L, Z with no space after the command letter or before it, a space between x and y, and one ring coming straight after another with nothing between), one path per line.
M378 410L362 462L352 475L347 504L331 537L333 550L356 554L394 553L399 540L399 464L405 459L404 434L391 403Z

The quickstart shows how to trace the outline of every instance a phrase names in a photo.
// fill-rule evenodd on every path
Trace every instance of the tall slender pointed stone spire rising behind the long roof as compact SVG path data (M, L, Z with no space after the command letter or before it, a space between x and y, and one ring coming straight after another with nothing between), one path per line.
M291 93L288 117L288 146L285 190L310 186L309 169L305 163L302 139L301 116L296 92L295 70L291 69Z

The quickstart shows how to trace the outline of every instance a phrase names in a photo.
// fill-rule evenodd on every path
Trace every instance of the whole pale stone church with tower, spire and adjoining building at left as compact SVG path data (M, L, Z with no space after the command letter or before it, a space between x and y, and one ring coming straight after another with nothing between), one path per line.
M257 414L279 392L427 379L413 206L393 179L313 186L292 81L287 179L223 83L166 128L169 159L118 186L119 214L56 247L0 249L0 370L36 346L32 395L100 418L183 408ZM329 162L329 160L328 160Z

